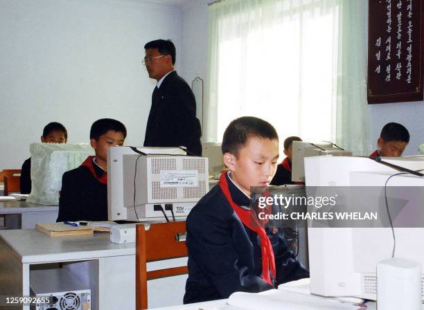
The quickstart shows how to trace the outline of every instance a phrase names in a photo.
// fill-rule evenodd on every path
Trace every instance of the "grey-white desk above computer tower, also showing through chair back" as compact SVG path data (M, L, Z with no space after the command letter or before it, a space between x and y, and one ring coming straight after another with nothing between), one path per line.
M186 257L152 262L148 270L186 263ZM109 233L48 237L33 229L0 231L0 295L30 295L30 271L60 267L91 288L92 310L135 309L134 243L114 244ZM148 282L148 307L182 304L186 278Z

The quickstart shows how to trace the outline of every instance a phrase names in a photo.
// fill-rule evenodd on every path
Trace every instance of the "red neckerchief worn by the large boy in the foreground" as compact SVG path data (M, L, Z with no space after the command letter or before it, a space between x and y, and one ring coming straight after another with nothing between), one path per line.
M270 277L271 270L272 276L275 279L274 250L272 250L270 238L267 236L267 233L265 233L265 229L263 229L259 223L253 223L254 225L251 225L251 220L256 219L256 217L251 217L250 210L240 208L240 206L233 201L229 192L227 177L225 174L227 174L227 172L222 172L218 185L220 185L225 198L227 198L231 208L233 208L234 212L236 212L236 215L238 215L242 223L258 234L260 238L260 251L262 253L262 277L263 280L274 286Z

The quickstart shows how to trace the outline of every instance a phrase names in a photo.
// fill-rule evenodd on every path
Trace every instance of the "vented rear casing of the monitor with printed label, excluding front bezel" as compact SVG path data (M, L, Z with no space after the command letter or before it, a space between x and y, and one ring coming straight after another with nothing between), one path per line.
M205 157L123 156L123 203L128 220L185 219L208 190Z

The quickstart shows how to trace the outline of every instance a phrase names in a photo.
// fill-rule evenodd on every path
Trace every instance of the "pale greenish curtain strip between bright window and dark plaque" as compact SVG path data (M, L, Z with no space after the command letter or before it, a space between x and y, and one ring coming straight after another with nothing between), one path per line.
M355 155L371 154L366 102L368 1L339 0L336 141Z

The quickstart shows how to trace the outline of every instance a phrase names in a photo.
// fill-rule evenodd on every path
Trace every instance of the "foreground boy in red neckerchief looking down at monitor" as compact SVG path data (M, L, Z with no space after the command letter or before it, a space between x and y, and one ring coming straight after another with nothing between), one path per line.
M276 171L279 137L255 117L233 120L222 139L224 164L218 186L187 217L188 279L184 303L260 292L309 277L281 229L252 226L251 186L267 186Z

